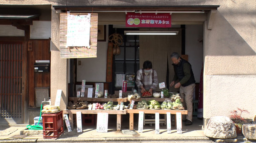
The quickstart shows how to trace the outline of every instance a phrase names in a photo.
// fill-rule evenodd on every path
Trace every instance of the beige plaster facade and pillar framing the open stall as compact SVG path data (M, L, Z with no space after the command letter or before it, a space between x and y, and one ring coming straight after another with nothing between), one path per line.
M3 1L3 0L2 0ZM99 13L99 24L125 23L125 10L142 11L205 11L198 13L172 13L172 24L203 25L204 62L204 119L213 116L228 116L233 109L247 109L252 118L256 101L256 2L253 0L214 2L144 1L122 2L100 0L97 2L37 2L18 3L3 1L4 5L51 5L51 73L50 95L55 102L56 91L61 89L61 109L68 102L69 60L60 58L60 13L67 11L94 11ZM106 11L106 12L96 12ZM108 35L107 35L108 37ZM107 47L107 42L101 43ZM186 53L189 54L189 53ZM103 56L102 59L105 57ZM103 68L104 70L104 68ZM97 76L97 75L95 75ZM103 79L104 80L104 79ZM104 81L103 81L104 82ZM242 98L246 103L241 102Z

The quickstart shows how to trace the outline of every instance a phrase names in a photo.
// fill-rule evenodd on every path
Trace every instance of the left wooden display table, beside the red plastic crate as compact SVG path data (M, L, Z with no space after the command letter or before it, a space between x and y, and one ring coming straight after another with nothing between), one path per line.
M81 114L98 114L98 113L108 113L108 114L116 114L116 130L121 130L121 115L126 114L125 110L88 110L88 109L66 109L63 110L64 114L69 114L70 126L74 129L73 123L73 114L76 112L81 112Z

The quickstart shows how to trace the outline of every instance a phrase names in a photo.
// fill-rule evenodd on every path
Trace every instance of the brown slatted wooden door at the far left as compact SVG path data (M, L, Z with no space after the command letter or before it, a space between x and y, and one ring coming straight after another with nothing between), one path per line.
M23 123L23 42L0 42L0 123Z

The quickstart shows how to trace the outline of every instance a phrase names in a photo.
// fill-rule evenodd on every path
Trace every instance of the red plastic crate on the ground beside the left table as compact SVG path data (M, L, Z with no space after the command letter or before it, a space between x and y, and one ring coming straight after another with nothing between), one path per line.
M57 139L64 132L62 112L42 115L44 138Z

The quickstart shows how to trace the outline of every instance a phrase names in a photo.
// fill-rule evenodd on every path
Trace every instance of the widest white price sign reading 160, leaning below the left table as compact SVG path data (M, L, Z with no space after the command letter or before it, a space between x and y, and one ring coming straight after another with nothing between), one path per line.
M108 132L108 113L98 113L96 131Z

